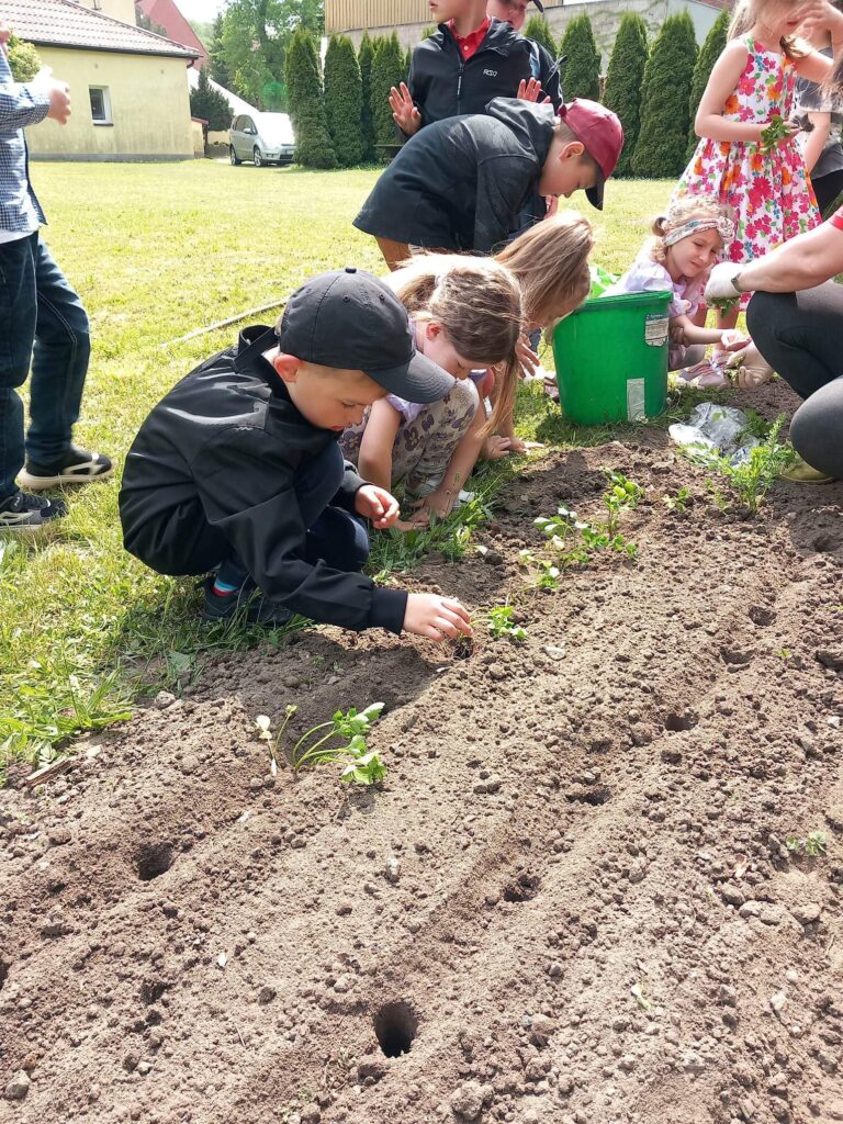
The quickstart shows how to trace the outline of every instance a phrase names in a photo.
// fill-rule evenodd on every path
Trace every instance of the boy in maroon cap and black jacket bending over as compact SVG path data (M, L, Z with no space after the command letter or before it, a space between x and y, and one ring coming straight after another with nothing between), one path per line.
M611 110L574 98L549 105L496 98L486 114L450 117L407 142L380 175L354 226L378 239L395 269L409 244L491 253L524 225L544 218L546 196L583 189L602 209L624 130Z

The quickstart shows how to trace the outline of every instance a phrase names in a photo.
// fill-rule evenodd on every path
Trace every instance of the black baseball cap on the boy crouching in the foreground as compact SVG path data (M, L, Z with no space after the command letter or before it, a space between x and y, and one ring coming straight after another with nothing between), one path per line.
M364 371L410 402L435 402L456 382L416 351L407 309L389 285L351 265L320 273L297 289L277 334L288 355Z

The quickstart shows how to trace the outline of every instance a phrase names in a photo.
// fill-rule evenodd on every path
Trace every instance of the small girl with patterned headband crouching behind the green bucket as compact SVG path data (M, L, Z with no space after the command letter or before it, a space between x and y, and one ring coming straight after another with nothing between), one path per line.
M711 266L723 256L735 236L732 209L705 196L687 196L668 208L653 223L649 238L628 272L602 293L664 292L673 299L670 317L671 371L682 370L682 378L697 380L701 387L727 386L720 364L706 362L706 345L716 344L724 352L741 351L749 341L733 330L706 328L694 323L703 303L703 292ZM745 375L745 372L744 372ZM738 374L743 384L744 375Z

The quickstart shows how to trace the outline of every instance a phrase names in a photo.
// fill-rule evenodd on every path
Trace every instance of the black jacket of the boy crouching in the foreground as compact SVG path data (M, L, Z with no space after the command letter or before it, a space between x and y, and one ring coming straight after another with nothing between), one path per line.
M214 544L227 541L278 605L344 628L400 633L406 593L305 561L293 475L337 434L290 401L263 356L275 343L271 328L245 328L236 347L191 371L149 414L123 477L126 550L158 573L202 573L221 561ZM353 510L363 483L346 462L332 502Z

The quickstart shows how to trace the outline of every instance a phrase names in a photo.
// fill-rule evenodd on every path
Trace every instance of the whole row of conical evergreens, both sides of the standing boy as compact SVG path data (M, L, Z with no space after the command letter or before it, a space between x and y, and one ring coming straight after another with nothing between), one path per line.
M565 100L602 100L620 118L626 143L616 175L672 179L681 174L697 137L694 118L711 67L726 43L724 9L701 49L687 11L669 16L650 45L641 16L625 12L611 51L605 88L600 53L588 15L565 27L560 43L544 19L533 17L525 34L552 54L565 56ZM397 138L389 90L406 79L409 54L393 33L363 36L360 52L347 36L332 36L325 74L314 36L294 33L287 53L290 115L297 137L297 161L308 167L351 167L377 158L375 145Z

